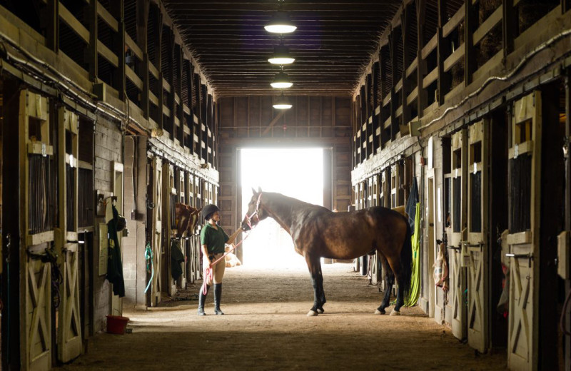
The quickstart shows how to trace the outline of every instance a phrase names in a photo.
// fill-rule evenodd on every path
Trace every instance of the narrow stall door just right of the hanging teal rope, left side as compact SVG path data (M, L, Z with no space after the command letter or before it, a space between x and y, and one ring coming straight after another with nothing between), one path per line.
M151 282L151 307L156 307L161 303L161 266L162 266L162 233L163 233L163 163L160 158L153 158L153 225L152 233L152 250L153 250L153 269Z

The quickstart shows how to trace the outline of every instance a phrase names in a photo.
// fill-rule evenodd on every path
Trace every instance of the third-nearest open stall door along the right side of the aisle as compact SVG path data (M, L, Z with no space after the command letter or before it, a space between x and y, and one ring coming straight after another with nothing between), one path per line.
M461 130L452 136L452 208L450 210L450 229L448 238L448 256L450 262L450 304L452 306L452 332L458 339L466 337L466 270L463 268L462 242L465 235L465 173L467 133Z

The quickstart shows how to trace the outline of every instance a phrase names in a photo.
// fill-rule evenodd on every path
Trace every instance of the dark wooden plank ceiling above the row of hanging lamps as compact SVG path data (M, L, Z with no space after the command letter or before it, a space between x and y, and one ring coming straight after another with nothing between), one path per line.
M216 96L277 95L278 66L268 62L279 37L263 26L278 0L163 0L183 42ZM298 27L283 36L295 62L284 66L293 81L285 95L351 95L378 48L380 34L400 0L285 0L282 10Z

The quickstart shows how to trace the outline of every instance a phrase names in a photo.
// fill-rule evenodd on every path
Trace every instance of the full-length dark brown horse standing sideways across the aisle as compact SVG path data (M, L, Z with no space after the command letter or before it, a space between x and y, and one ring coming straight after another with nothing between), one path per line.
M248 203L242 229L250 230L260 220L271 217L291 235L295 251L305 258L313 284L313 307L308 315L323 313L325 293L320 258L353 259L378 250L388 273L383 302L375 314L385 314L390 288L396 277L398 295L391 315L400 315L400 307L410 288L412 246L410 225L403 215L388 208L368 208L348 213L333 213L280 193L258 188ZM390 269L387 269L388 266ZM394 273L394 275L393 275Z

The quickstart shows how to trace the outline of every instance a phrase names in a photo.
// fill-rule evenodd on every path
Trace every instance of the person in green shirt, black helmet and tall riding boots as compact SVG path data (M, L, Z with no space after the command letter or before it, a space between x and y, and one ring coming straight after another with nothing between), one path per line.
M224 245L229 237L222 227L218 225L220 221L220 209L218 206L212 204L204 206L202 209L202 218L206 220L201 230L202 266L204 270L206 294L201 287L201 292L198 294L198 315L206 315L204 312L204 302L206 301L206 296L212 284L214 284L214 313L216 315L223 315L224 313L220 310L220 299L222 296L222 278L224 276L226 262L221 260L216 265L212 265L212 263L224 255ZM206 268L213 270L213 280L208 280L208 277L206 277Z

